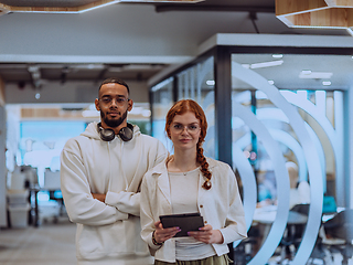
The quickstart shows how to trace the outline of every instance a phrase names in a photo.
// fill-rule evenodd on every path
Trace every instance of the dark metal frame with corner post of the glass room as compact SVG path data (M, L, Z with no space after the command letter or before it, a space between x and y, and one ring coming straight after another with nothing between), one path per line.
M226 46L218 45L200 55L197 59L170 73L164 78L176 76L178 73L204 61L214 57L214 78L215 78L215 153L220 161L224 161L232 167L232 54L236 53L274 53L274 54L324 54L324 55L353 55L353 49L350 47L293 47L293 46ZM174 78L176 80L176 78ZM162 81L162 80L161 80ZM160 82L161 82L160 81ZM157 82L156 84L158 84ZM174 100L178 98L178 84L173 87ZM150 91L151 93L151 91ZM150 96L150 98L152 98ZM151 106L152 106L151 102ZM347 106L347 100L344 102ZM152 116L151 116L152 119ZM345 117L350 120L350 117ZM151 120L152 121L152 120ZM152 123L151 123L152 124ZM346 135L347 136L347 135ZM345 146L344 153L349 157L349 147ZM349 172L349 166L345 166L345 172ZM350 187L350 176L346 173L346 187ZM344 204L350 206L350 191L344 191ZM233 244L229 246L229 257L234 261Z

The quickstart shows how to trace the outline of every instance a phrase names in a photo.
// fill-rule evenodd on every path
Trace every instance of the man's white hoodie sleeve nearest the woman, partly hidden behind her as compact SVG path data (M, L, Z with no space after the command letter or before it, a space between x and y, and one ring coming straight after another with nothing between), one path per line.
M154 147L150 147L150 155L152 155L152 157L149 159L149 161L151 162L148 169L153 168L154 166L163 161L168 156L168 151L161 141L153 139L152 144L154 145ZM140 216L140 192L136 193L129 191L108 191L105 202L108 205L116 206L121 212Z

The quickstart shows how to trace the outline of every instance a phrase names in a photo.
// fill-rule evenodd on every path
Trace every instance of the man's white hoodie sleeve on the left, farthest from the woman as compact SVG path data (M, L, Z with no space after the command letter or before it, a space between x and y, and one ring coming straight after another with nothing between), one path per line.
M72 222L105 225L128 219L128 214L95 200L90 193L79 146L71 139L61 155L61 189Z

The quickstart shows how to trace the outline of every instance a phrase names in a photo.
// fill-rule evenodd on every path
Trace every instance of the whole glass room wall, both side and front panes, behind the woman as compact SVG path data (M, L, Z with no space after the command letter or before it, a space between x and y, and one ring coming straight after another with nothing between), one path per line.
M276 50L287 54L269 53ZM164 117L174 100L192 98L205 110L205 155L232 163L248 227L248 239L234 242L229 256L250 265L346 261L351 245L340 245L333 261L324 224L349 205L343 120L352 56L246 46L207 54L151 88L153 136L165 139ZM159 89L165 91L163 106Z

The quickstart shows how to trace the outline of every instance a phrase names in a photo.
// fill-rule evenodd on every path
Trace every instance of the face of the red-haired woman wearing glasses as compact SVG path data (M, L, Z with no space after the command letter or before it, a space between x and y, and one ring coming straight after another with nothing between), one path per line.
M200 120L192 112L175 115L170 125L170 139L174 145L174 150L196 148L200 134Z

